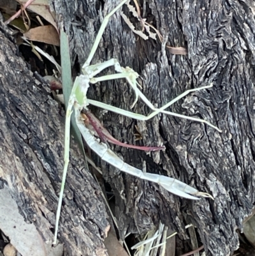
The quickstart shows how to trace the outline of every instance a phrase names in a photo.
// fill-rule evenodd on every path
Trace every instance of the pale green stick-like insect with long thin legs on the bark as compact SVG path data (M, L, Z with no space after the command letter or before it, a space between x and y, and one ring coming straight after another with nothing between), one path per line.
M94 56L96 49L98 48L99 41L101 40L101 37L103 35L103 32L105 31L105 27L108 24L108 20L110 17L119 10L124 3L126 3L127 0L121 1L120 4L118 4L108 15L106 15L105 19L103 20L103 23L101 24L101 27L99 29L99 32L96 36L96 40L94 41L94 45L92 46L91 52L89 54L89 57L87 58L87 61L85 61L84 65L82 66L82 75L78 76L75 79L75 82L73 84L73 88L71 90L71 94L69 96L68 101L68 107L66 109L66 128L65 128L65 146L64 146L64 171L63 171L63 177L62 177L62 184L61 184L61 192L59 195L59 204L57 207L57 215L56 215L56 224L55 224L55 235L54 235L54 244L57 243L57 230L59 226L59 217L61 213L61 204L62 204L62 197L64 193L64 183L66 180L66 174L68 170L68 163L69 163L69 139L70 139L70 121L71 121L71 114L73 112L73 109L75 110L75 122L78 126L78 130L82 134L82 137L84 138L85 142L91 149L98 154L102 160L105 160L105 162L110 163L110 165L113 165L117 169L121 170L122 172L126 172L128 174L131 174L136 177L140 177L141 179L145 179L147 181L151 181L154 183L158 183L160 186L162 186L164 189L168 190L171 193L174 193L175 195L179 195L180 197L185 197L187 199L193 199L198 200L201 197L212 197L208 193L204 192L198 192L196 188L193 188L186 183L183 183L182 181L179 181L177 179L162 176L159 174L150 174L147 172L143 172L140 169L136 169L135 167L129 165L128 163L123 162L115 153L113 153L112 150L108 148L108 146L103 143L99 142L96 137L94 137L94 134L85 126L84 124L84 117L82 116L81 112L83 109L87 109L88 105L94 105L96 107L99 107L101 109L109 110L112 112L115 112L117 114L124 115L126 117L130 117L137 120L146 121L151 119L152 117L156 116L159 113L162 114L168 114L171 116L177 116L182 117L186 119L190 119L193 121L198 121L201 123L205 123L208 126L211 126L218 132L221 132L219 128L214 126L213 124L210 124L208 121L205 121L203 119L198 119L195 117L189 117L184 116L181 114L173 113L166 111L168 107L170 107L173 103L177 102L187 94L199 91L201 89L208 89L212 87L212 84L209 86L204 86L196 89L189 89L186 92L180 94L177 96L177 98L171 100L171 102L167 103L163 107L156 109L152 103L149 102L149 100L145 97L145 95L138 89L138 82L136 79L138 78L138 73L136 73L133 69L126 67L123 68L120 66L117 59L110 59L108 61L105 61L104 63L98 63L98 64L92 64L92 57ZM104 75L102 77L95 77L98 75L102 70L105 70L106 68L114 66L115 71L118 73L114 73L112 75ZM131 108L135 105L135 103L138 101L138 98L141 98L147 106L153 110L149 116L143 116L142 114L137 114L134 112L129 112L128 110L119 109L117 107L113 107L111 105L107 105L102 102L97 102L95 100L90 100L87 98L87 90L89 89L89 84L96 84L101 81L106 80L112 80L112 79L126 79L128 84L133 88L135 91L135 102L131 106Z

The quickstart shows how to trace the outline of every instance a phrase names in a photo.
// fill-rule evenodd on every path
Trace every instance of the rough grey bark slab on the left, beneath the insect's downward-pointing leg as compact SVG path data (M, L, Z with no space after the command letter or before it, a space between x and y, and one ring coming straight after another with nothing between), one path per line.
M62 179L64 117L48 86L40 84L18 57L17 46L3 23L0 42L0 188L4 184L9 188L25 221L34 223L50 244ZM106 255L106 209L100 188L84 169L82 159L78 147L73 147L59 229L61 241L69 255Z

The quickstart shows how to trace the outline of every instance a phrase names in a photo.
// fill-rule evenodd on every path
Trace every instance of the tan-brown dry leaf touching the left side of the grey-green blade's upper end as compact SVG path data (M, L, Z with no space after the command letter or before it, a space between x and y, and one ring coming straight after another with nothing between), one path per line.
M48 43L49 45L59 46L59 34L52 25L40 26L29 29L24 34L25 38L31 41L40 41L42 43Z

